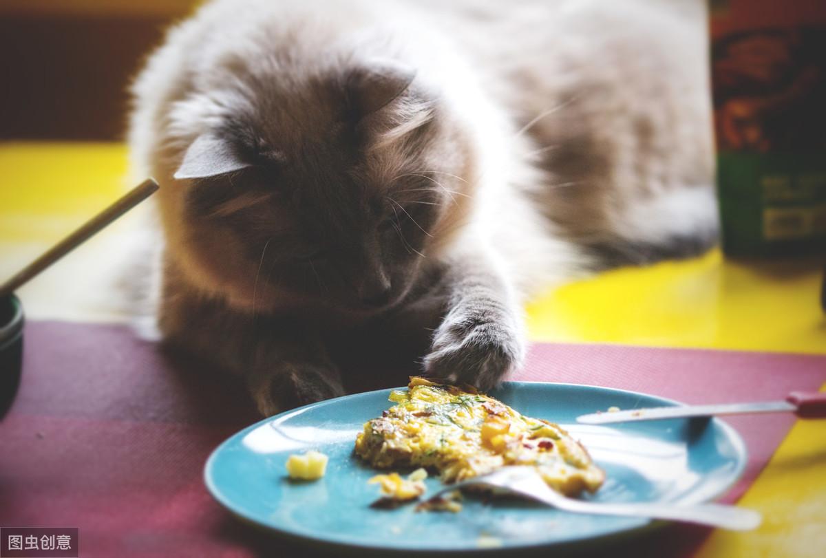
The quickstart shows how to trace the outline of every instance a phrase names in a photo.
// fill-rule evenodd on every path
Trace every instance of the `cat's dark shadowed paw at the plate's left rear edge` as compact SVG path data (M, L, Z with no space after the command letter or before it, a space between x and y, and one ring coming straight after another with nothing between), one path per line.
M265 417L344 395L338 371L311 363L283 363L271 374L259 376L250 389Z

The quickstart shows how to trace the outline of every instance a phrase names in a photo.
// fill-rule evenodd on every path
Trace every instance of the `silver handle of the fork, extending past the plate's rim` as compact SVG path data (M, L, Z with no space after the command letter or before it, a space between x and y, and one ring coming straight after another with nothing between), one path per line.
M553 502L557 508L571 512L619 515L634 518L667 519L685 523L699 523L732 531L748 531L760 525L760 513L751 509L724 504L594 504L568 500Z

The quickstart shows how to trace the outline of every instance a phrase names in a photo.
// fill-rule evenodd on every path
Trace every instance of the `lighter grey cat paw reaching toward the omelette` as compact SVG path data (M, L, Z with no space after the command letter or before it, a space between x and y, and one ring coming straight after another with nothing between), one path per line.
M436 329L425 376L490 390L520 366L525 338L515 317L449 313Z

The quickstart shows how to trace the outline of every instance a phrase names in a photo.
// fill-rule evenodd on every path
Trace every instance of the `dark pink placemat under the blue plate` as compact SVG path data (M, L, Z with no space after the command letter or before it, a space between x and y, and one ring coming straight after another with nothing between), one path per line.
M207 456L258 420L214 371L108 325L26 327L21 390L0 423L0 526L79 527L81 556L330 556L232 518L202 482ZM405 383L405 371L386 376ZM605 385L688 403L782 398L826 381L826 357L538 344L515 379ZM794 422L729 420L749 462L737 499ZM683 556L708 531L672 526L613 556ZM600 556L597 551L596 556Z

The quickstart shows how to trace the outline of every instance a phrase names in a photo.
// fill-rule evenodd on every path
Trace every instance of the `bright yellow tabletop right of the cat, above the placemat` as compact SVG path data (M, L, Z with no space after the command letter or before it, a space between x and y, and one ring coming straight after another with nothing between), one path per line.
M826 353L821 258L684 262L605 272L529 306L536 340ZM826 378L824 378L826 379Z

